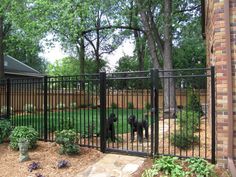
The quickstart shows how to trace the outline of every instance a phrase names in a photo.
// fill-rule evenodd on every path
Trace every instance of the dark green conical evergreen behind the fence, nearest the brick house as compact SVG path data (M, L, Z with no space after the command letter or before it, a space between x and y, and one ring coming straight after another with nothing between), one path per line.
M197 96L195 91L190 92L188 98L188 108L194 112L198 112L201 116L203 115L200 98Z

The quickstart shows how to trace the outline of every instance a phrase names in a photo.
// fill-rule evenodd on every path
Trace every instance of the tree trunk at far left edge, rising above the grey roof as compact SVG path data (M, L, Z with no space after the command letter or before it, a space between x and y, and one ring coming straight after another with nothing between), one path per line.
M3 17L0 16L0 79L4 77Z

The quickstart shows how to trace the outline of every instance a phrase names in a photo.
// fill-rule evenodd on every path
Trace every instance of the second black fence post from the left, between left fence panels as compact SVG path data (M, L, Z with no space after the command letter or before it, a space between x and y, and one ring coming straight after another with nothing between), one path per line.
M43 108L43 111L44 111L44 141L47 141L48 140L48 123L47 123L47 119L48 119L48 109L47 109L47 104L48 104L48 101L47 101L47 92L48 92L48 77L47 76L44 76L44 92L43 92L43 95L44 95L44 108Z

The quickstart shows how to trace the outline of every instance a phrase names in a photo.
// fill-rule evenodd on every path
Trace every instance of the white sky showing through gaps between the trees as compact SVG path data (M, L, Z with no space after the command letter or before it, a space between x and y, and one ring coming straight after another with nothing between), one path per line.
M50 39L50 37L49 37ZM45 41L42 41L44 47L44 52L40 53L40 56L44 57L50 63L54 63L56 60L60 60L64 57L69 56L68 53L64 52L62 46L59 42L53 42L53 47L47 48ZM134 50L134 45L131 40L125 40L122 45L116 49L113 53L109 55L104 55L107 59L109 67L114 70L117 61L124 55L132 56Z

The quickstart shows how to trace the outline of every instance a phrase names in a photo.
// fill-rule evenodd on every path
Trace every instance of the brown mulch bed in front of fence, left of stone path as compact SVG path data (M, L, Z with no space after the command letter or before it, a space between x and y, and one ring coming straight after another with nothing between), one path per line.
M36 173L45 177L74 177L103 156L95 149L84 147L81 147L80 154L75 156L59 155L58 150L59 146L56 143L38 142L37 148L29 152L31 160L19 163L19 151L10 149L8 143L1 144L0 177L35 177ZM70 167L58 169L59 160L68 160ZM28 166L32 162L39 162L40 169L29 172Z

